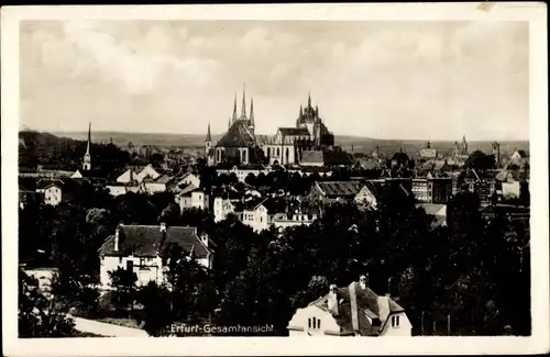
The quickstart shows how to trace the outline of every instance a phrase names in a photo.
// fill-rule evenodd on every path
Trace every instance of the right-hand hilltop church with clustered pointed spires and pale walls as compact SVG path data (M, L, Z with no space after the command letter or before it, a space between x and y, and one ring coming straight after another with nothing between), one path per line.
M300 105L296 126L279 127L263 150L270 165L298 165L306 153L322 152L333 145L334 135L319 116L319 108L311 105L309 96L308 105Z

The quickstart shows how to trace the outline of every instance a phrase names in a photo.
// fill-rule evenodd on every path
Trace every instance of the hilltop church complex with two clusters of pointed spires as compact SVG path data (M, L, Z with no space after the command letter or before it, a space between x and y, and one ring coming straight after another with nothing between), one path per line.
M251 99L250 113L246 114L246 93L243 90L241 113L237 110L237 96L233 114L229 120L227 133L212 146L210 124L205 141L209 165L230 163L248 165L268 163L268 165L298 165L305 156L315 156L331 149L334 135L319 116L319 108L311 105L311 96L306 108L300 105L296 126L279 127L275 136L261 138L255 134L254 101Z

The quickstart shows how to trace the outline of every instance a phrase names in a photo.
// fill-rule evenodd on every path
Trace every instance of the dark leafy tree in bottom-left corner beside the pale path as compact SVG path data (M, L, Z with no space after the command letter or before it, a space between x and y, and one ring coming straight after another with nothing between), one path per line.
M70 337L74 326L73 319L40 292L38 281L19 270L19 337Z

